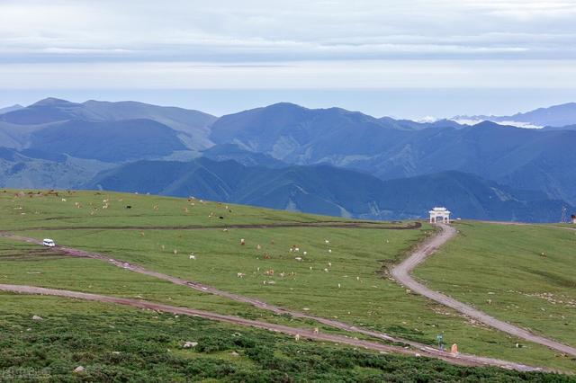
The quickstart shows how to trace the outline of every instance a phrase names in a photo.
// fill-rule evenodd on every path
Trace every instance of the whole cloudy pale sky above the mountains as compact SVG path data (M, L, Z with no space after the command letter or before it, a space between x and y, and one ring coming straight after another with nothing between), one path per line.
M574 20L576 0L0 0L0 106L510 114L576 101Z

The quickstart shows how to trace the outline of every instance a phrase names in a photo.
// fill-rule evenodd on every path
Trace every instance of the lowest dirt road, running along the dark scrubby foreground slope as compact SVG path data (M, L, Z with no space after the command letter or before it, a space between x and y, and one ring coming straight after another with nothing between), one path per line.
M88 294L77 291L68 291L61 289L44 289L33 286L22 286L22 285L4 285L0 284L0 290L24 294L40 294L49 295L56 297L65 298L77 298L92 300L104 303L113 303L119 305L125 305L130 307L139 307L144 309L151 309L157 311L163 311L167 313L185 315L185 316L200 316L203 318L226 322L233 325L243 325L249 327L255 327L260 329L266 329L275 331L277 333L289 334L289 335L300 335L302 338L308 338L316 341L325 341L332 343L347 344L355 347L363 347L368 350L374 350L379 352L395 352L411 356L426 356L429 358L440 359L453 364L463 365L463 366L499 366L506 369L521 370L521 371L535 371L542 370L534 367L529 367L523 364L513 363L509 361L500 361L490 358L482 358L473 355L461 354L452 355L448 352L438 353L437 350L431 348L421 348L419 350L413 350L410 348L404 348L401 346L388 345L383 343L375 343L365 340L359 340L355 338L349 338L344 335L337 334L321 334L315 333L309 329L297 328L287 325L275 325L266 322L260 322L251 319L245 319L238 316L225 316L217 313L212 313L209 311L196 310L187 307L175 307L167 306L163 304L148 302L139 299L129 299L129 298L117 298L105 295Z

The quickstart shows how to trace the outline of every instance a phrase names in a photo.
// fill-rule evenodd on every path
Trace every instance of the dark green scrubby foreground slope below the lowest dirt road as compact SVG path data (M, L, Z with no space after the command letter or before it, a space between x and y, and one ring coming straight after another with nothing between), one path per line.
M0 293L0 381L568 382L94 302ZM43 319L32 321L31 316ZM196 342L184 349L184 342ZM17 366L17 367L14 367ZM85 371L74 374L78 366Z

